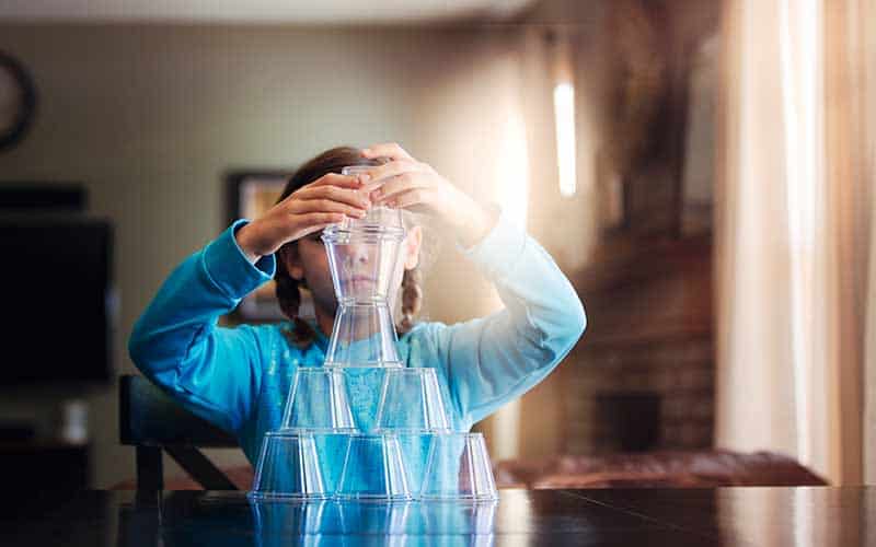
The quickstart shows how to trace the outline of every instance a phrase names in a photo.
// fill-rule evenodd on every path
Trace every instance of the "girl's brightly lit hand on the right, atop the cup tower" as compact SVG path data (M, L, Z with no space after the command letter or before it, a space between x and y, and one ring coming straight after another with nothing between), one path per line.
M362 150L362 156L391 160L369 171L369 186L380 185L370 194L372 205L435 214L456 229L465 246L481 241L495 224L496 219L477 202L399 144L376 144Z

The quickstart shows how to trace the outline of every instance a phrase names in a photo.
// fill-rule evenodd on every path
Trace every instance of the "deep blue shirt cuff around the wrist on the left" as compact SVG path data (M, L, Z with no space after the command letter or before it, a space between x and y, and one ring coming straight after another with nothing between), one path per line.
M263 256L252 264L238 245L234 232L249 222L246 219L235 221L204 249L207 275L220 290L234 300L242 299L260 284L273 279L277 270L274 255Z

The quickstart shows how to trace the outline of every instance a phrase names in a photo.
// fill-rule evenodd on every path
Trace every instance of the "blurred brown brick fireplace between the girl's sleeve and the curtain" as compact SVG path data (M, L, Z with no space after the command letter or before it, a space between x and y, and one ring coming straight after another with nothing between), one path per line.
M563 453L712 446L712 245L606 248L575 280L590 323L563 366Z

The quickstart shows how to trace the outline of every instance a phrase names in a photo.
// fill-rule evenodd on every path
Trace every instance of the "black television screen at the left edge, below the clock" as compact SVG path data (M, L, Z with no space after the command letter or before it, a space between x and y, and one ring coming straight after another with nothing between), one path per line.
M111 380L112 248L106 221L0 217L0 385Z

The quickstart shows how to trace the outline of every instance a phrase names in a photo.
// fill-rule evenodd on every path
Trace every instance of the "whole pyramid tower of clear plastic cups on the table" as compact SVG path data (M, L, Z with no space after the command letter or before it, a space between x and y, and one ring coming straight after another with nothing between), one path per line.
M265 435L253 500L497 498L483 435L451 431L435 369L405 368L395 350L389 296L404 237L402 211L387 207L323 231L334 329L324 365L296 372L283 424Z

